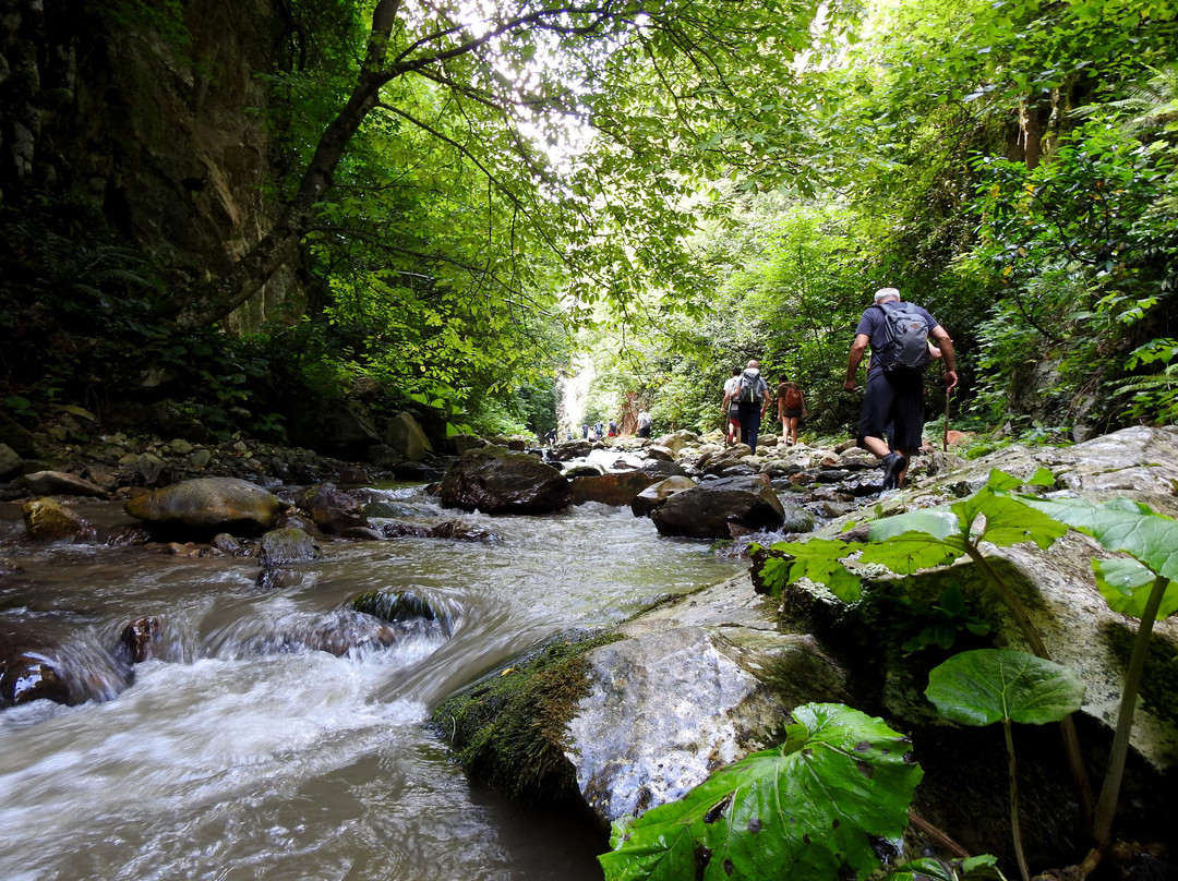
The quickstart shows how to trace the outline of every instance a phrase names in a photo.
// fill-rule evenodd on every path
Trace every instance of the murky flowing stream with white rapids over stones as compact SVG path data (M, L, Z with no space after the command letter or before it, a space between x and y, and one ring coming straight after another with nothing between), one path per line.
M471 786L425 722L498 664L568 628L734 574L703 544L660 538L628 509L543 517L442 510L380 490L398 519L454 519L488 543L327 543L283 587L252 558L31 544L0 505L0 623L48 629L93 661L145 615L166 660L113 700L0 711L0 879L600 879L602 836ZM79 512L130 522L113 503ZM7 572L7 574L6 574ZM345 629L370 590L412 589L450 610L388 649L300 649Z

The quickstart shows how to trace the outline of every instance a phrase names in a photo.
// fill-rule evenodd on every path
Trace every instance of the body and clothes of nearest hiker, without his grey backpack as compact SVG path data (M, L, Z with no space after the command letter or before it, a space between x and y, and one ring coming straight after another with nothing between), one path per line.
M885 304L902 303L900 291L895 287L881 287L875 292L875 304L863 310L855 327L855 342L851 345L847 358L847 377L842 387L855 390L855 376L862 363L863 353L871 345L873 355L884 344ZM946 330L927 311L920 306L908 305L909 311L920 314L928 325L928 334L940 349L945 362L945 389L958 384L957 362L953 353L953 340ZM889 422L895 424L893 439L894 451L889 449L885 429ZM860 446L884 462L884 489L896 489L904 484L908 473L908 462L912 453L920 449L925 429L924 373L887 372L879 359L873 357L867 367L867 391L863 395L863 406L859 416L856 440Z

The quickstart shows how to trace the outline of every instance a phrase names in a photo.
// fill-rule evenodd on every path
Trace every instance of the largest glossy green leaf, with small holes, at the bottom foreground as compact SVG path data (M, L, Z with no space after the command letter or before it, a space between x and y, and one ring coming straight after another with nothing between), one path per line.
M794 710L787 742L716 771L682 800L617 822L608 881L865 877L869 836L907 824L921 769L878 718L841 704Z

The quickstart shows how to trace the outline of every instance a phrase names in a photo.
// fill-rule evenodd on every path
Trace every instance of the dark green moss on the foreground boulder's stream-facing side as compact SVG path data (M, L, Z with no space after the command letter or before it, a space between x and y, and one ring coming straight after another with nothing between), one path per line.
M560 801L577 791L564 755L568 723L589 694L585 655L623 637L560 634L443 703L434 726L466 775L524 802Z

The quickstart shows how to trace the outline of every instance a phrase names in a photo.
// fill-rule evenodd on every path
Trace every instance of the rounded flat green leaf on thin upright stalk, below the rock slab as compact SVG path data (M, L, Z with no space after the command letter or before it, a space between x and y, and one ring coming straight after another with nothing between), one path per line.
M954 722L1058 722L1080 708L1084 683L1067 667L1010 649L954 655L928 675L925 696Z

